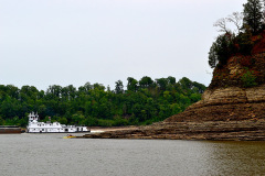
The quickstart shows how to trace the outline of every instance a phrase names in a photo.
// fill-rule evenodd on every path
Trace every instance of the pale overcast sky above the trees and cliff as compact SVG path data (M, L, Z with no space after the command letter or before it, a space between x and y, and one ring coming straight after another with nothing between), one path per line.
M209 86L213 23L246 0L0 0L0 85L115 88L127 78Z

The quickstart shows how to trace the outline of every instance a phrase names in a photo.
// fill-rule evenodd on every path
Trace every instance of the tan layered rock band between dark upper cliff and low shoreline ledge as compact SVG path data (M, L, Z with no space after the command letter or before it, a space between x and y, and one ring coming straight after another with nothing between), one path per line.
M206 90L202 100L165 122L201 122L265 119L265 85L254 88Z

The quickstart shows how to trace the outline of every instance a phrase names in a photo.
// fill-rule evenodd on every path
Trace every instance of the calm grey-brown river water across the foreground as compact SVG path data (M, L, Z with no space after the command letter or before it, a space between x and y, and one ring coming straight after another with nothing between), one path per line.
M265 142L1 134L1 176L265 175Z

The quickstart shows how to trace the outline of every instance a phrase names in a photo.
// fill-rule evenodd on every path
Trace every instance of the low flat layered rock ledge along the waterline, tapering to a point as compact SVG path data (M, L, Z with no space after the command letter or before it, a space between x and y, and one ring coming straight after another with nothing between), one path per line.
M265 141L265 120L160 122L137 130L91 133L84 139Z

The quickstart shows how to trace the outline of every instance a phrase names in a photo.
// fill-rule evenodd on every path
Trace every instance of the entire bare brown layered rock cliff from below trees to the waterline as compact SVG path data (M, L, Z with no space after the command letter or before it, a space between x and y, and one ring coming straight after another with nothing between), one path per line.
M247 72L255 77L250 88L242 79ZM265 141L265 54L234 56L215 68L202 100L182 113L138 130L84 138Z

